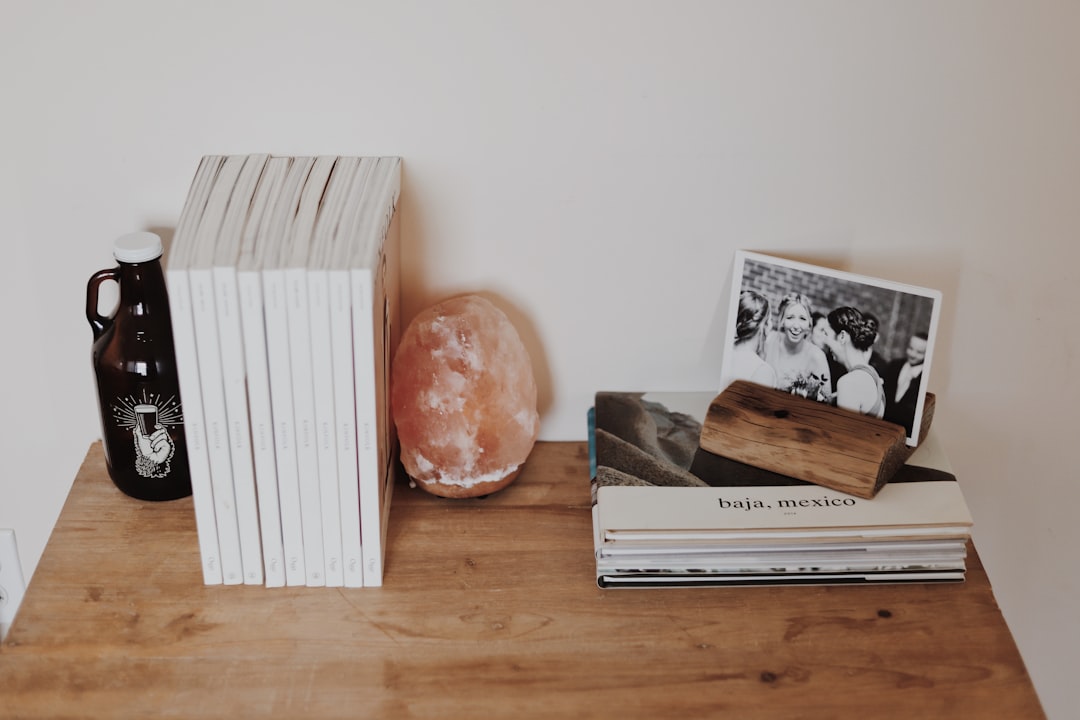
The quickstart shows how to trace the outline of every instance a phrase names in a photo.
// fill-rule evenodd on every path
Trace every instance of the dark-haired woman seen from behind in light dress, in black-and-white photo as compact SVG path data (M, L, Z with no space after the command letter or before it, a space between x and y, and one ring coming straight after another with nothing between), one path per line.
M827 344L848 369L836 381L836 406L881 418L885 416L885 383L869 364L876 323L854 308L828 313Z

